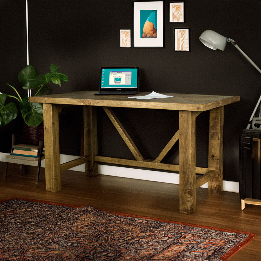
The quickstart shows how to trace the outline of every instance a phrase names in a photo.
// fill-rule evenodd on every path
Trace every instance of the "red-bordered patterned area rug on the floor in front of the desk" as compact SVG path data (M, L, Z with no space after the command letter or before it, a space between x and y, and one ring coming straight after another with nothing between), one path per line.
M13 199L1 203L1 260L227 260L254 234Z

